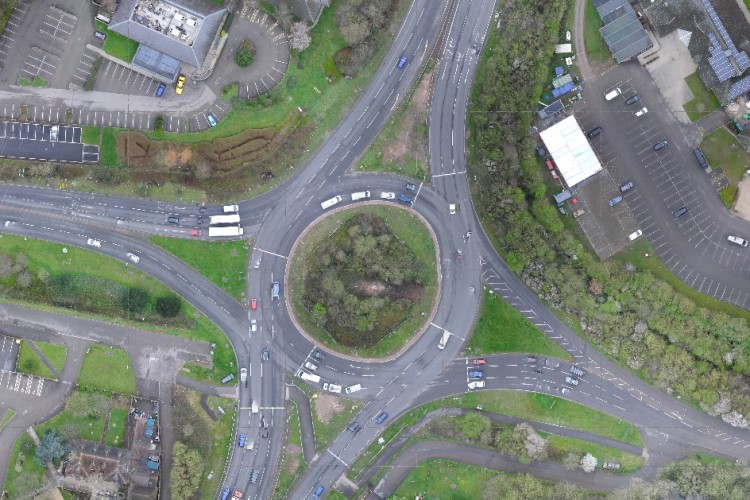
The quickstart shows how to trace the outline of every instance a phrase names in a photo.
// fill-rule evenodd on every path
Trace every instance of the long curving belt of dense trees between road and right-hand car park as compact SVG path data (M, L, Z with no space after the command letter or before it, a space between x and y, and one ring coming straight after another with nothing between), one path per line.
M736 420L733 411L750 412L747 313L681 293L632 254L600 262L552 202L528 133L532 115L506 111L536 107L565 7L509 2L505 24L489 33L468 123L479 216L510 268L586 341L659 389Z

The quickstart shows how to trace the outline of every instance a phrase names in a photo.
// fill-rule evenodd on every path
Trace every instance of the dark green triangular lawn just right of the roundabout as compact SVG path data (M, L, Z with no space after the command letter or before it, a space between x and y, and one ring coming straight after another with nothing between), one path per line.
M484 294L479 320L466 350L474 355L525 352L571 359L567 351L491 292Z

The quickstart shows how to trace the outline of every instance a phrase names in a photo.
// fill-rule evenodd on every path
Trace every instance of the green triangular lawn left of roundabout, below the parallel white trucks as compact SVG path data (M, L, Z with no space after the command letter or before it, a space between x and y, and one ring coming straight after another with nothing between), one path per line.
M238 301L245 299L252 248L247 240L208 242L150 236L149 241L185 261Z

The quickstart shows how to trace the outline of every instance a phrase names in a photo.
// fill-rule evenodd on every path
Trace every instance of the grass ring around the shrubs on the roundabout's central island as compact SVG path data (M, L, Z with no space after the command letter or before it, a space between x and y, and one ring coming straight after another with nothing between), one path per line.
M345 219L359 213L369 213L383 218L389 225L391 231L404 245L416 256L427 270L425 277L424 296L420 303L412 307L411 316L402 322L394 331L386 335L380 342L370 348L353 349L335 342L325 331L319 328L312 317L302 305L301 295L304 285L304 261L316 242L327 237L338 228ZM319 222L305 236L305 245L297 248L297 253L292 260L290 276L287 283L287 300L292 304L297 320L306 331L318 341L347 354L362 357L382 357L393 354L401 349L414 332L425 321L426 315L432 310L436 287L436 255L435 246L429 231L421 220L414 217L409 210L397 206L370 205L367 207L355 207L332 215ZM424 314L424 316L423 316Z

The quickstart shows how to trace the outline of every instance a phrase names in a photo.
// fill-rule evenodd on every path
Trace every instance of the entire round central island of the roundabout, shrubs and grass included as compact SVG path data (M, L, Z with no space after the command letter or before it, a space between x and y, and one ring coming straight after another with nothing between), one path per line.
M420 219L395 206L327 217L305 235L291 265L287 296L297 319L342 352L379 357L398 351L435 300L432 237Z

